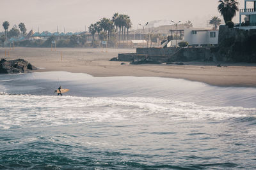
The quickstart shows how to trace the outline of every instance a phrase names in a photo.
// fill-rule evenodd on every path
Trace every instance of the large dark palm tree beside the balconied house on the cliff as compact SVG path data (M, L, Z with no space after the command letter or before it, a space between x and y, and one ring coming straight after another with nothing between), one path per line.
M224 18L225 23L232 21L232 18L236 16L236 11L238 11L238 5L236 0L220 0L218 5L218 10Z

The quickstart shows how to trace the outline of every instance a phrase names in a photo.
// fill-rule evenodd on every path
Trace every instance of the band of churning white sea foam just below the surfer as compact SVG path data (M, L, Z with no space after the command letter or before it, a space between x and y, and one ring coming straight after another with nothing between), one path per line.
M1 94L0 128L49 127L87 122L225 120L253 117L256 108L199 106L150 97L71 97Z

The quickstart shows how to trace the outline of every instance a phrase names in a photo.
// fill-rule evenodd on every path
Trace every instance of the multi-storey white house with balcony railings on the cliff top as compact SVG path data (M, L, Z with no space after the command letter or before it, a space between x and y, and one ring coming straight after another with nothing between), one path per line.
M244 0L244 9L239 10L239 24L235 27L245 30L256 29L256 0Z

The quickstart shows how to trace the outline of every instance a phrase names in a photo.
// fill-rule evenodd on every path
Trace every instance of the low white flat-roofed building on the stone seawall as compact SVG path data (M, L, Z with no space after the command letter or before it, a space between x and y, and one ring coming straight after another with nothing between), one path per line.
M218 36L218 30L184 29L184 41L188 41L189 45L218 45Z

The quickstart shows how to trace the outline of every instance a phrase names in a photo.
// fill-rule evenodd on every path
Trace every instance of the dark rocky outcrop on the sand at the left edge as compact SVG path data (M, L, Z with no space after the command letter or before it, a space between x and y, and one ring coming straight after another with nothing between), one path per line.
M8 73L24 73L29 70L36 70L37 68L23 59L17 60L0 60L0 74Z

